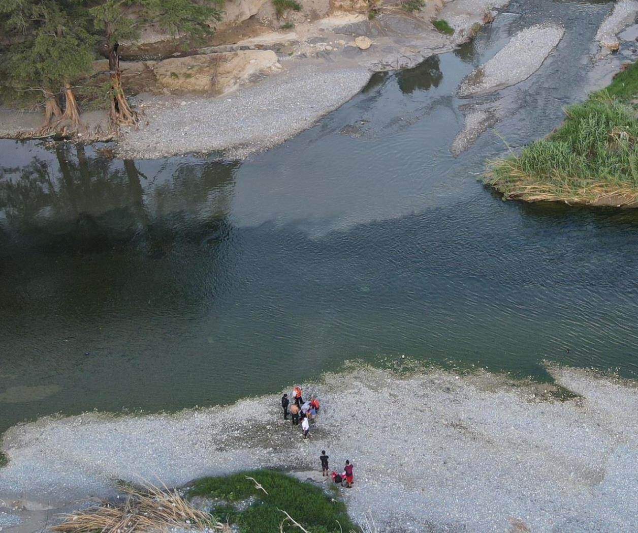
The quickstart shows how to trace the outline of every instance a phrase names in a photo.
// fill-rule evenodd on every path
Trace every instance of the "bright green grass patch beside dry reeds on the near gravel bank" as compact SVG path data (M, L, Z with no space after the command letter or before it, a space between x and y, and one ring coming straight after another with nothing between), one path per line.
M246 476L254 477L263 488ZM279 509L286 511L311 533L341 533L351 529L359 531L352 523L346 506L336 494L327 495L320 487L302 483L289 475L275 470L253 470L223 477L204 477L193 483L188 497L202 496L220 498L227 502L241 502L253 497L255 501L244 511L232 505L216 507L212 513L221 520L239 526L242 533L279 531L279 524L286 518ZM288 533L298 532L292 523L284 525Z

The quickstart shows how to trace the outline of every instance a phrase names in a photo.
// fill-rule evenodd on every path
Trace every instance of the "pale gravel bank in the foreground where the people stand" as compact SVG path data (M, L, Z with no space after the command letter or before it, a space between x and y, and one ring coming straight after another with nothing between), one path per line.
M175 415L42 419L5 434L0 495L62 504L105 495L114 479L312 470L326 449L334 466L355 464L346 502L357 518L419 531L503 531L512 520L534 532L634 531L638 388L552 373L582 398L553 401L551 387L488 374L327 375L309 387L325 406L309 443L281 421L278 395Z

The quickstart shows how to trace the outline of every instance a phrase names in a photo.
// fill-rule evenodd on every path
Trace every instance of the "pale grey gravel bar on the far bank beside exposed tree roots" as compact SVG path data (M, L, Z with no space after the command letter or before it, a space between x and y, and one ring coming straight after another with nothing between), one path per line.
M299 65L221 98L139 97L149 123L126 132L118 152L151 159L226 150L226 157L245 157L311 127L359 93L370 75L367 68Z

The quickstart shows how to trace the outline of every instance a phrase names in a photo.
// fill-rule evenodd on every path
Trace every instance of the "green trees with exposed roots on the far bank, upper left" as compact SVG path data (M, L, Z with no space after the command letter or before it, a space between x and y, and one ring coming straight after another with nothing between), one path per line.
M212 35L223 0L0 0L0 97L43 109L38 134L77 132L78 91L106 102L115 125L134 125L122 87L119 47L154 24L188 49ZM108 59L108 81L93 61Z

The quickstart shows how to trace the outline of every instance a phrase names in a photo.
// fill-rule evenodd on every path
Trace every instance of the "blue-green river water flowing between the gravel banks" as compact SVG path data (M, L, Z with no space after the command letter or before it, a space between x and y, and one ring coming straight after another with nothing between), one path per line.
M591 41L610 7L512 3L244 162L0 141L0 430L225 403L350 359L635 376L638 211L505 203L477 181L503 140L547 134L602 84ZM455 97L544 21L566 33L535 75ZM464 106L487 100L505 118L452 157Z

